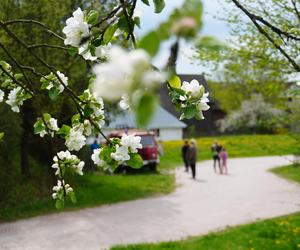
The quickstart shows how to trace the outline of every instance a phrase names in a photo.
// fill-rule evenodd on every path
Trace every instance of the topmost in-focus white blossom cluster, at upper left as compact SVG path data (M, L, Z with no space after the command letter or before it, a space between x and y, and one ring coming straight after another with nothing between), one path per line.
M66 21L63 33L66 34L65 45L78 47L83 37L89 36L89 25L84 21L84 13L80 8L73 12L73 17Z

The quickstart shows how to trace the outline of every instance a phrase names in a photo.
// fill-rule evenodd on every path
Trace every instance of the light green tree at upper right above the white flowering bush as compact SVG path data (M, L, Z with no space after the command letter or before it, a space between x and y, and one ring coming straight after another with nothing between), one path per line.
M299 63L299 3L227 1L230 3L250 17L250 22L245 23L247 18L236 8L226 9L233 38L226 44L206 38L196 43L195 60L215 73L209 81L212 95L229 114L258 93L274 108L286 110L290 76L298 71Z

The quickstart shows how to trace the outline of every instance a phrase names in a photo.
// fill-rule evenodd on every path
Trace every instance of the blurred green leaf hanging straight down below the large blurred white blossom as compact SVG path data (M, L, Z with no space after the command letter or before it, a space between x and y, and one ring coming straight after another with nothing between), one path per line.
M155 95L145 93L139 100L136 108L136 122L139 127L146 127L156 110L157 99Z

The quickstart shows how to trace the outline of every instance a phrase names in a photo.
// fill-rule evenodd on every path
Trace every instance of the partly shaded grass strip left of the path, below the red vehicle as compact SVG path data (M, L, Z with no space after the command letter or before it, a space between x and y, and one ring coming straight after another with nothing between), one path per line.
M68 179L76 190L78 202L67 203L65 210L134 200L154 194L166 194L175 188L174 175L95 175L85 174ZM22 192L22 190L20 190ZM51 190L44 198L27 199L17 204L0 207L0 221L16 220L58 212L51 198Z

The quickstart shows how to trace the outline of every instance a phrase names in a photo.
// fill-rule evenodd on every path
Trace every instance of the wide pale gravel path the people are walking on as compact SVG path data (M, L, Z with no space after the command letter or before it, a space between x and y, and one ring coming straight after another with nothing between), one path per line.
M210 161L197 166L197 181L176 170L177 190L111 206L0 224L0 249L106 249L114 244L182 239L300 210L300 186L267 170L283 157L229 161L228 176Z

